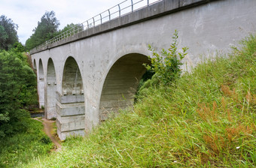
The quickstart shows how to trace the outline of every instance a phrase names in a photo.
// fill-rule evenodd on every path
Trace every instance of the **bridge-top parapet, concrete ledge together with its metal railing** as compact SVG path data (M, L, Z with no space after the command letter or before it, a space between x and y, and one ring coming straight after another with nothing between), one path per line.
M127 1L127 0L126 0ZM147 5L141 7L137 10L133 9L133 6L141 3L142 1L137 1L133 3L131 0L131 5L120 8L120 5L123 4L121 2L119 5L114 7L118 7L119 10L114 13L119 13L118 17L111 18L110 9L105 10L102 13L109 12L109 14L105 17L102 17L102 13L99 13L100 18L96 20L96 17L91 18L90 20L85 21L84 23L77 24L73 28L68 31L63 32L62 34L53 37L50 40L42 43L40 46L36 46L30 52L36 53L41 52L46 49L50 49L56 46L64 45L66 43L72 43L76 40L81 40L87 37L91 37L97 34L105 33L106 31L112 31L117 28L122 28L125 26L130 26L136 23L145 22L145 20L151 20L155 17L162 17L166 14L176 12L178 10L184 10L187 7L193 7L195 5L202 5L208 3L209 1L216 0L177 0L177 1L169 1L169 0L159 0L154 1L154 3L149 3L147 0ZM121 10L125 10L126 8L131 7L131 10L123 15L120 14ZM113 14L114 14L113 13ZM109 18L106 22L102 22L106 17ZM96 24L97 21L100 21L99 24Z

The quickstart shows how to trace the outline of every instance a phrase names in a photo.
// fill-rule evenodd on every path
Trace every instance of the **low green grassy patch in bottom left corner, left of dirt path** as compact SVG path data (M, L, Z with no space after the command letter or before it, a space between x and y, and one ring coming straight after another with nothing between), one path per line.
M48 154L52 142L39 121L28 119L26 132L0 139L0 167L17 167L38 156Z

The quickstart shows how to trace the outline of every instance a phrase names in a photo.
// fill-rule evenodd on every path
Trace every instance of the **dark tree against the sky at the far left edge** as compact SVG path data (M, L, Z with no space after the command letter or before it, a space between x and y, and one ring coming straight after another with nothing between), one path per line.
M14 43L19 41L17 28L17 24L5 15L0 17L0 49L11 49Z

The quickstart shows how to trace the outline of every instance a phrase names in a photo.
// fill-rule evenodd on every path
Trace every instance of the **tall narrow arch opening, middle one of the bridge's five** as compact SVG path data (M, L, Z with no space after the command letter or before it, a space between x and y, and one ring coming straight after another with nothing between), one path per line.
M52 58L49 58L47 64L46 89L44 116L47 119L56 118L56 73Z

